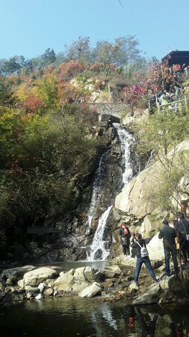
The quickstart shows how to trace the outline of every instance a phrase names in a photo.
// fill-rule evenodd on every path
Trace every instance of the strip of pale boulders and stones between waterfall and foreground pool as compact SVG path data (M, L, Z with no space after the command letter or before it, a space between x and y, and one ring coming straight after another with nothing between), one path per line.
M167 277L165 273L162 274L164 266L161 266L156 270L159 282L152 284L144 269L139 278L139 285L136 286L133 282L135 259L127 260L130 261L130 266L113 265L103 269L85 266L66 272L61 271L61 267L25 266L4 269L0 274L0 304L68 296L96 296L97 300L102 302L124 300L133 305L188 302L180 289L180 279L174 272ZM187 278L188 265L183 268Z

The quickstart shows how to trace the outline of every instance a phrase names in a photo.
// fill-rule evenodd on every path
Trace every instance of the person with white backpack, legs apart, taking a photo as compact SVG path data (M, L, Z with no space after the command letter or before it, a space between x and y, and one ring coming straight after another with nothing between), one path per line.
M134 239L136 238L136 241L134 242ZM139 278L139 273L141 271L141 267L143 263L146 265L146 268L150 272L151 277L153 278L154 283L157 283L158 280L156 279L156 276L154 274L149 256L148 256L148 251L146 249L146 242L142 238L142 234L137 233L136 237L133 237L131 240L131 247L136 248L137 251L137 265L136 265L136 272L135 272L135 280L134 283L137 285L138 284L138 278Z

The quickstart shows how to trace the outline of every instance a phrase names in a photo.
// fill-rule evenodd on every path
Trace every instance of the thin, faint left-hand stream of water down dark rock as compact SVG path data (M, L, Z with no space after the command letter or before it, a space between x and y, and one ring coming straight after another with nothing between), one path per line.
M87 213L88 226L89 227L91 227L92 218L95 215L95 211L96 211L96 207L97 207L97 203L98 203L99 181L100 181L100 177L101 177L101 172L103 170L104 157L108 152L109 151L106 151L101 156L101 159L100 159L100 162L99 162L99 167L98 167L98 170L97 170L96 175L95 175L95 181L92 185L92 197L91 197L91 201L90 201L90 207L89 207L89 210L88 210L88 213Z

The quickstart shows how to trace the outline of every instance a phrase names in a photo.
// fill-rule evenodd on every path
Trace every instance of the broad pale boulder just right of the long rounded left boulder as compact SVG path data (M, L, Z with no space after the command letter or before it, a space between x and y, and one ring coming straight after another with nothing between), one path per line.
M84 288L88 287L89 282L76 279L74 275L65 273L58 277L52 284L54 290L79 293Z

